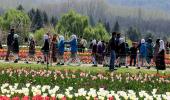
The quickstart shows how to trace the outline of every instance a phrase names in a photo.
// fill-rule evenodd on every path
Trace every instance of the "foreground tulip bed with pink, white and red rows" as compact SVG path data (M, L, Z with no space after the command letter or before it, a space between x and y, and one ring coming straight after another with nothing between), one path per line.
M0 69L0 100L170 100L170 77Z

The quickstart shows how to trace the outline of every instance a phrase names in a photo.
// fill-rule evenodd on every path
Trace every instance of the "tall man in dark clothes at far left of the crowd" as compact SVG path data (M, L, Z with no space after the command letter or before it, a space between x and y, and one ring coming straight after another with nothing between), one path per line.
M5 61L9 61L8 58L10 52L12 51L13 42L14 42L14 28L10 30L10 33L8 34L7 37L7 54L6 54Z

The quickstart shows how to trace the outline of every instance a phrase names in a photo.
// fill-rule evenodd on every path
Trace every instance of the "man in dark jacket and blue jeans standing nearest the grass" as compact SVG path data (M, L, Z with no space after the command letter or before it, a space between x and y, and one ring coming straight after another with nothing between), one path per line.
M115 69L115 59L116 59L116 53L115 53L115 48L116 48L116 32L112 33L112 38L109 41L109 47L111 49L111 57L110 57L110 65L109 65L109 70L114 71Z

